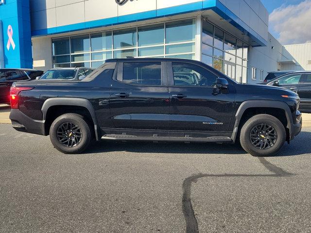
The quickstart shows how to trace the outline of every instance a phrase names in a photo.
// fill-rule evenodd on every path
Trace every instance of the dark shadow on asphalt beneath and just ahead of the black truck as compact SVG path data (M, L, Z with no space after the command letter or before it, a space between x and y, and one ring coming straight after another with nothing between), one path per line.
M295 156L311 153L311 144L306 140L311 132L301 132L291 144L284 144L275 157ZM241 146L216 143L152 143L152 142L114 142L95 143L86 153L103 153L109 151L128 151L134 153L170 153L170 154L246 154Z

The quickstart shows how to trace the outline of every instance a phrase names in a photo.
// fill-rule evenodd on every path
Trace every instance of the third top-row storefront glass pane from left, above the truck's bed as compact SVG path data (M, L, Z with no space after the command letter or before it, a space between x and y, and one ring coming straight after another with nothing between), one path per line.
M91 51L112 50L112 33L91 34Z

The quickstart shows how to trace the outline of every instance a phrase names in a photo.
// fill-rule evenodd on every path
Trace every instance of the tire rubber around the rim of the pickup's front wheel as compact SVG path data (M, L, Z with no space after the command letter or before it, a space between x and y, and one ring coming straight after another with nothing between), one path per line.
M251 130L261 124L261 123L266 123L271 125L272 127L275 128L276 133L277 133L277 139L276 143L272 148L266 149L266 150L259 150L255 148L250 140L250 133ZM251 118L248 120L245 125L242 128L241 131L241 145L244 150L249 152L252 155L255 156L271 156L278 152L284 145L286 139L286 132L283 124L275 117L262 117L262 118Z

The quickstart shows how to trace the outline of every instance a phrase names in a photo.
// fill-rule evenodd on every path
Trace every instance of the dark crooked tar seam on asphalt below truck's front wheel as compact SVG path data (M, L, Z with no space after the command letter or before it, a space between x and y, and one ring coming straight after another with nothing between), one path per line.
M294 174L259 158L260 163L273 174L196 174L186 178L183 182L182 210L186 220L186 233L199 233L198 222L191 203L191 184L204 177L289 177Z

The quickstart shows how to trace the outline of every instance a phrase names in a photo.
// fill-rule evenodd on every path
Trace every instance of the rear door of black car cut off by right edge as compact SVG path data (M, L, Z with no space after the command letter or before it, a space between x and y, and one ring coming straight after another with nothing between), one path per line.
M299 110L311 113L311 74L303 74L298 95L300 97Z

